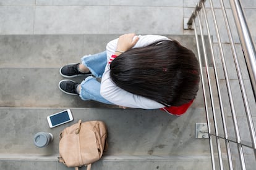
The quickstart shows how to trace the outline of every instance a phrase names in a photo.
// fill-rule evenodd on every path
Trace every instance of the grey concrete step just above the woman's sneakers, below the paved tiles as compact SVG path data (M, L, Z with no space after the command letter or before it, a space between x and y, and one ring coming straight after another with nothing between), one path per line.
M0 35L0 67L59 68L80 62L80 57L105 51L117 34ZM166 35L195 53L193 35Z

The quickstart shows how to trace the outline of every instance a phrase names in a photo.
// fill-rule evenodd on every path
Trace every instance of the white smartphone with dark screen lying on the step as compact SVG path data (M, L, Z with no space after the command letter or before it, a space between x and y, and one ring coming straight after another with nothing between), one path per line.
M67 109L67 110L60 111L59 113L55 113L53 115L47 116L47 120L49 123L49 127L53 128L61 124L72 121L73 116L70 109Z

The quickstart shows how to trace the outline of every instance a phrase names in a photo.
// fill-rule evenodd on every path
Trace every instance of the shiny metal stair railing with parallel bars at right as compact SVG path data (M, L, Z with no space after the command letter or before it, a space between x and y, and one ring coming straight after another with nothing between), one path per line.
M249 147L252 148L254 150L255 153L255 160L256 160L256 137L255 137L255 129L254 129L254 124L252 121L252 115L250 112L250 107L249 107L249 102L248 102L248 98L247 98L247 94L245 91L245 86L244 86L244 79L242 78L242 73L241 73L241 67L239 65L238 59L237 59L237 52L236 52L236 48L234 47L234 41L233 41L233 36L231 33L231 29L229 26L229 21L228 21L228 17L226 15L226 9L224 7L223 4L223 0L220 0L220 4L221 4L221 10L223 12L223 17L224 17L224 23L226 25L226 29L228 31L228 37L229 37L229 41L230 41L230 45L231 45L231 50L233 53L233 58L234 58L234 64L236 66L236 71L237 71L237 78L239 80L239 85L241 88L241 94L242 94L242 99L244 102L244 108L245 108L245 116L247 118L247 123L248 123L248 127L249 127L249 131L250 131L250 138L251 138L251 145L247 145L244 144L242 142L241 139L241 134L239 132L239 126L237 123L237 115L236 115L236 109L234 107L234 98L233 98L233 94L231 91L231 85L229 82L229 75L228 75L228 68L226 67L226 59L224 56L224 52L223 52L223 47L222 47L222 42L221 42L221 37L220 37L220 31L218 28L218 24L216 22L216 16L215 16L215 10L213 8L213 3L211 0L209 0L210 2L210 9L211 9L211 14L213 16L213 24L214 24L214 28L215 28L215 32L216 32L216 38L218 41L218 48L220 50L220 57L221 57L221 62L223 65L223 73L224 73L224 78L225 78L225 82L226 82L226 88L228 91L228 99L229 99L229 105L231 108L231 115L233 118L233 128L234 128L234 132L236 134L236 139L232 140L230 139L229 135L228 135L228 130L227 130L227 123L226 123L226 118L225 118L225 114L224 114L224 106L223 106L223 97L221 95L221 91L220 91L220 82L219 82L219 78L218 78L218 72L217 72L217 68L216 68L216 62L215 62L215 54L213 52L213 42L211 41L211 33L210 33L210 28L209 28L209 24L208 24L208 18L207 18L207 12L205 10L205 1L206 0L200 0L199 3L197 4L197 6L195 6L194 11L192 12L192 15L190 16L188 22L187 22L187 27L188 28L193 28L192 24L194 23L194 27L195 27L195 40L197 42L197 51L198 51L198 60L200 67L202 68L202 57L200 54L200 47L199 47L199 41L198 41L198 34L197 34L197 25L196 25L196 20L198 20L198 28L200 30L200 36L201 36L201 41L202 41L202 48L203 48L203 55L204 55L204 60L205 60L205 70L206 70L206 74L207 74L207 81L204 81L203 79L203 72L201 69L201 77L202 77L202 87L203 87L203 97L205 100L205 111L206 111L206 116L207 116L207 124L208 124L208 134L209 134L209 142L210 142L210 152L211 152L211 162L212 162L212 168L215 169L215 156L214 156L214 149L213 149L213 137L215 137L216 139L216 147L217 147L217 151L218 151L218 162L219 162L219 166L220 169L223 169L223 158L222 158L222 152L221 152L221 147L220 147L220 140L224 139L224 142L226 144L226 152L227 152L227 158L228 158L228 165L229 165L229 169L233 169L233 158L231 155L231 147L230 147L230 142L233 142L237 145L237 151L239 153L239 160L241 163L241 169L246 169L245 166L245 158L244 158L244 151L243 151L243 147ZM244 13L242 11L241 8L241 3L239 2L239 0L229 0L230 4L231 4L231 9L233 10L233 15L234 15L234 19L236 21L236 26L237 26L237 30L239 33L239 39L241 41L241 46L242 46L242 50L244 51L244 55L245 55L245 60L246 60L246 64L247 64L247 68L249 70L249 75L250 75L250 81L252 84L252 89L254 91L254 97L255 95L255 79L256 79L256 55L255 55L255 49L254 49L254 45L252 42L252 38L250 36L250 32L247 26L247 23L245 21L245 17L244 17ZM218 99L219 99L219 104L220 104L220 111L221 111L221 121L222 121L222 126L223 126L223 131L224 131L224 137L220 136L219 132L218 132L218 123L216 121L216 111L215 111L215 100L213 100L213 91L212 91L212 82L211 82L211 78L210 78L210 73L209 73L209 66L208 66L208 59L207 59L207 51L206 51L206 45L205 45L205 40L203 38L203 26L202 26L202 20L201 20L201 16L200 16L200 10L203 10L203 17L205 18L205 27L207 30L207 35L208 35L208 41L210 44L210 52L211 52L211 58L212 58L212 62L213 62L213 70L214 70L214 74L215 74L215 83L216 83L216 89L218 92ZM210 92L210 102L211 102L211 108L212 108L212 116L213 116L213 124L214 124L214 130L215 130L215 134L212 131L211 127L210 127L210 113L208 111L208 101L207 101L207 95L205 94L205 82L208 83L208 89ZM256 97L255 97L256 99Z

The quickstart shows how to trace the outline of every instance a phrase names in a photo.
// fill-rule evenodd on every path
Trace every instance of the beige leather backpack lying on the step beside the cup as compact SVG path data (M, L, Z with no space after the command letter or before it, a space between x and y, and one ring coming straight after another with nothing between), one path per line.
M79 123L66 127L59 136L59 162L77 170L80 166L90 170L92 163L100 160L107 148L107 129L102 121L82 123L79 120Z

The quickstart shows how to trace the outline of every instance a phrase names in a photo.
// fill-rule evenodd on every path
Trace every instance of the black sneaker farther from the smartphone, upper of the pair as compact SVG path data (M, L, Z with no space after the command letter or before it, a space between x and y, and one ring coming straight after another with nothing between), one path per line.
M90 76L92 75L91 72L89 73L82 73L79 71L79 64L69 64L69 65L64 65L59 69L59 73L61 73L62 76L65 78L74 78L76 76Z

